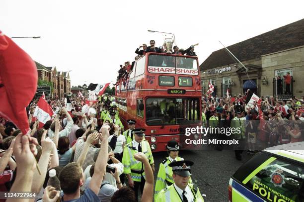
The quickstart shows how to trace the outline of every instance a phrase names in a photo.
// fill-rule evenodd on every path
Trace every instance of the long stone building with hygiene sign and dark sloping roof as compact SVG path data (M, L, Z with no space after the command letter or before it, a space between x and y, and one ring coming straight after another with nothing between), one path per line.
M214 96L226 96L227 91L238 96L248 89L281 100L304 95L304 19L227 48L244 66L225 49L213 52L200 65L204 94L210 82ZM290 86L284 77L287 73Z

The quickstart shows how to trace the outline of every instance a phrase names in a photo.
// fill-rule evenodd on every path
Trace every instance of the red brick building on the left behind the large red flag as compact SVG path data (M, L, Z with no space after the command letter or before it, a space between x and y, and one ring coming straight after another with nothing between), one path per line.
M38 79L52 82L52 98L63 98L64 93L70 94L71 80L70 75L66 72L58 72L56 67L46 67L36 62Z

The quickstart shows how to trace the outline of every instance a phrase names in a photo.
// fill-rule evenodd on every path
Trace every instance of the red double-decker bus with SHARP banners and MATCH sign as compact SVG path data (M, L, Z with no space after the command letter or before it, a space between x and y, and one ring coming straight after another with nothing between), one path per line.
M186 128L201 125L201 79L198 58L147 53L135 62L127 81L116 85L116 105L127 128L128 119L145 128L152 151L165 151L175 139L181 149L200 149L187 144L200 135L186 136ZM188 139L186 141L186 139Z

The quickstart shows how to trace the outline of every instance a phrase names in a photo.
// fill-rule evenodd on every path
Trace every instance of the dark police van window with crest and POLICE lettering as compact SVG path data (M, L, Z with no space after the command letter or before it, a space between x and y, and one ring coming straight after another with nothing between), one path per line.
M303 202L303 185L304 167L280 158L274 158L245 184L265 201L277 202Z

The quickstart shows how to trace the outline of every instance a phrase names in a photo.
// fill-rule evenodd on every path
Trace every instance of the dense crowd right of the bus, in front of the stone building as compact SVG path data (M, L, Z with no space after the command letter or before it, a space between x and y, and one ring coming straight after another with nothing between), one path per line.
M250 98L249 98L250 99ZM304 141L304 97L278 101L274 97L261 97L247 107L247 93L238 96L202 98L203 126L241 128L240 134L218 135L218 139L238 139L235 157L241 160L241 153L255 153L258 150L280 144ZM217 149L222 150L223 145Z

